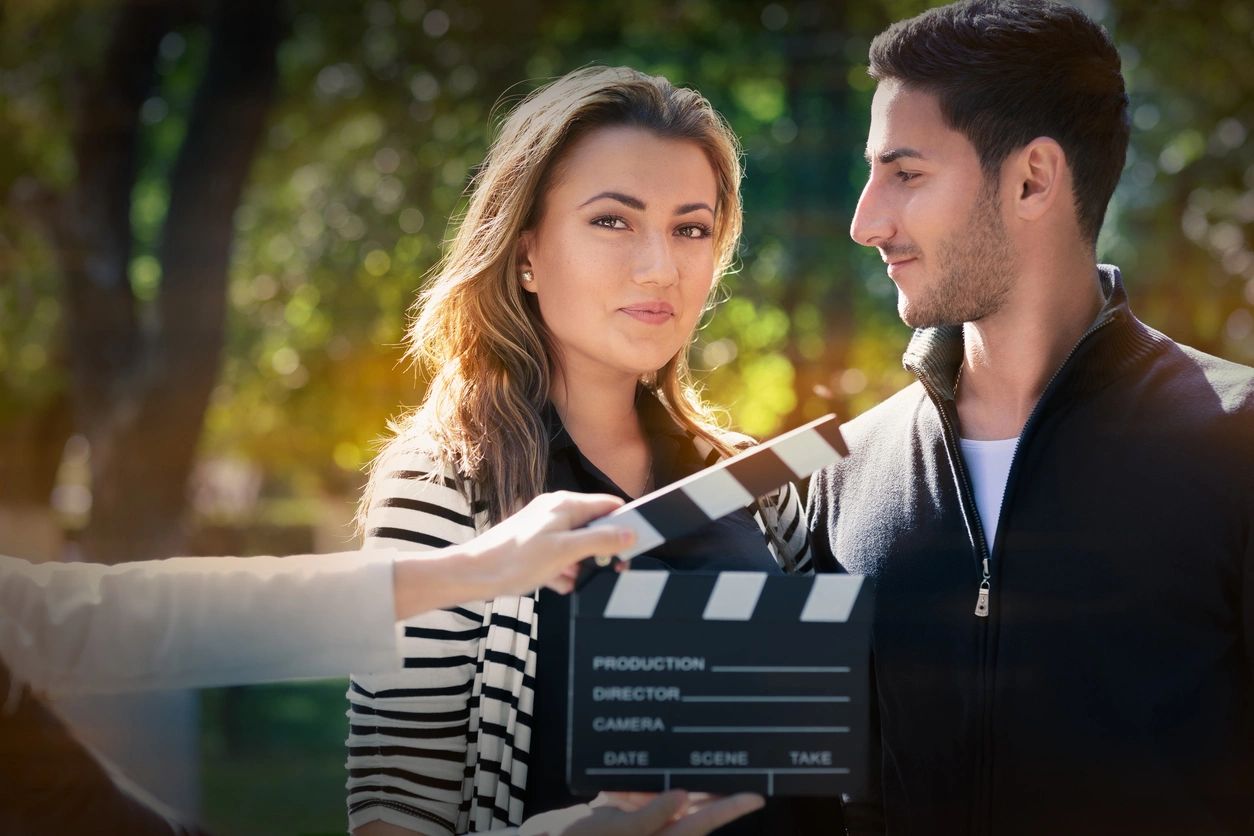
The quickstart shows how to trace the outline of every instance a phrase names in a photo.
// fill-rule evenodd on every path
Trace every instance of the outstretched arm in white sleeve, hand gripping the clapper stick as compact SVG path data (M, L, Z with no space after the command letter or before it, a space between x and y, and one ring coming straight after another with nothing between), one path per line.
M542 584L569 589L577 560L626 545L618 529L573 530L618 504L540 496L480 538L426 553L114 567L0 558L0 657L36 689L82 692L393 669L399 619Z

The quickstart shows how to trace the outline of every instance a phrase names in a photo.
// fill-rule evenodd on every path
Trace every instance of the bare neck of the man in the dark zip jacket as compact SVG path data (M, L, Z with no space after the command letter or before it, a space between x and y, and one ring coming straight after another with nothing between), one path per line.
M1020 435L1041 394L1104 303L1091 259L1025 276L996 315L963 325L957 390L964 439Z

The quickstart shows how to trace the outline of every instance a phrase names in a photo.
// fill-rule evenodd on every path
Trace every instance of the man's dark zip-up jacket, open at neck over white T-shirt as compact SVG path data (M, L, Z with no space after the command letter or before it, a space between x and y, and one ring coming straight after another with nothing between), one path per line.
M874 579L889 833L1254 833L1254 370L1097 321L1020 436L989 612L958 452L961 328L844 427L815 478L821 569Z

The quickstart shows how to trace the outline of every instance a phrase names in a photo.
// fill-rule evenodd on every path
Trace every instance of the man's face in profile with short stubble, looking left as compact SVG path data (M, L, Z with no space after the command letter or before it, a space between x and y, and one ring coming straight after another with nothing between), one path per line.
M946 125L937 98L885 80L872 102L870 175L849 228L879 249L912 327L974 322L1001 310L1013 280L998 178Z

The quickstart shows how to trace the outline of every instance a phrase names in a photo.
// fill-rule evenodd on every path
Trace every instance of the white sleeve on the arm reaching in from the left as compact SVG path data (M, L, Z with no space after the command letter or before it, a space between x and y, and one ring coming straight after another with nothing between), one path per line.
M0 656L35 688L76 692L399 668L393 555L0 558Z

